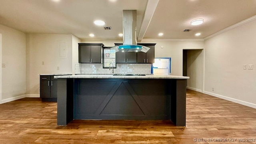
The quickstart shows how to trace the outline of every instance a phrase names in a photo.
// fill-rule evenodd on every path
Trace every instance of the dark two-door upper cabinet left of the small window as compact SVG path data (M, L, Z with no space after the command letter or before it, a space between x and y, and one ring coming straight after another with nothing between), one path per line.
M79 63L102 63L103 44L78 43Z

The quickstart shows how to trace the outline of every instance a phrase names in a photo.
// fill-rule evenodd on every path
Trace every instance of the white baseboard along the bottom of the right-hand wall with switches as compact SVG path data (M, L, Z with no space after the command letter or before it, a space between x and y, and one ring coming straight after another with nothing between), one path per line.
M249 106L251 108L256 108L256 104L253 104L253 103L250 103L250 102L245 102L243 100L238 100L238 99L235 99L235 98L230 98L230 97L227 97L227 96L222 96L222 95L214 94L212 92L207 92L207 91L204 91L203 93L204 94L208 94L210 96L215 96L217 98L221 98L221 99L224 99L224 100L228 100L228 101L231 101L231 102L235 102L235 103L238 103L238 104L242 104L244 106Z

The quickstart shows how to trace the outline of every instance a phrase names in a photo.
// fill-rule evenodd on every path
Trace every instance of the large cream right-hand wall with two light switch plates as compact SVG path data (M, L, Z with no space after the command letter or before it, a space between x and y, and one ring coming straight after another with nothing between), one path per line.
M204 93L256 108L255 38L253 20L205 40Z

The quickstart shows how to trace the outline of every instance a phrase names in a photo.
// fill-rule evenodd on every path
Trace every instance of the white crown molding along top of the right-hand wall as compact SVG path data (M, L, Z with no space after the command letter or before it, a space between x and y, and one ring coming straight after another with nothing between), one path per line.
M231 30L231 29L233 29L233 28L236 28L236 27L238 27L238 26L241 26L241 25L246 24L246 23L248 23L248 22L251 22L251 21L253 21L253 20L256 20L256 15L255 15L255 16L252 16L252 17L250 17L250 18L247 18L246 20L243 20L243 21L241 21L241 22L238 22L238 23L236 23L236 24L234 24L234 25L232 25L232 26L229 26L229 27L227 27L227 28L225 28L225 29L223 29L223 30L220 30L220 31L218 31L218 32L216 32L216 33L214 33L214 34L212 34L212 35L210 35L210 36L206 36L206 37L204 38L204 40L208 40L209 38L212 38L212 37L214 37L214 36L217 36L217 35L219 35L219 34L222 34L222 33L224 33L224 32L227 32L228 30Z

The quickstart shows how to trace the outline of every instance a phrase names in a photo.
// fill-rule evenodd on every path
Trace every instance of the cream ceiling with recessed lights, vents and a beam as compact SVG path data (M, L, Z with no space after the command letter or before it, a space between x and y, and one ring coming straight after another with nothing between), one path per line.
M205 38L256 15L256 0L0 0L0 24L26 33L118 40L122 10L137 10L138 41ZM204 23L190 25L203 18ZM93 24L103 20L103 26ZM183 32L184 29L192 29ZM164 33L158 36L158 33ZM200 32L200 36L194 34ZM95 36L91 38L90 33Z

